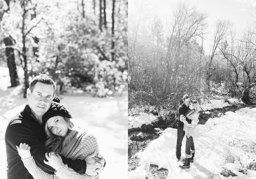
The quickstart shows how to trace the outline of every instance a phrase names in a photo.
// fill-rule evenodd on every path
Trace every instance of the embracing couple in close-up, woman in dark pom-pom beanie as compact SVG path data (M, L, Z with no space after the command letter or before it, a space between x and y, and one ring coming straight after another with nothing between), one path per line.
M8 179L92 179L105 166L95 136L74 124L55 87L47 75L34 77L27 105L8 124Z

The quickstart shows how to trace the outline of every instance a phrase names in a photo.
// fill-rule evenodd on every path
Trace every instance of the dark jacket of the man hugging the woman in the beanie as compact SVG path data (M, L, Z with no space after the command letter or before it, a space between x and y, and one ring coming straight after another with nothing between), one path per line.
M30 107L26 105L25 109L10 121L5 132L7 178L33 179L18 155L16 145L20 146L20 143L27 143L31 147L31 155L39 168L46 173L54 174L55 169L43 162L44 159L46 160L45 153L47 152L44 147L45 141L44 126L34 118ZM67 164L68 167L73 168L78 173L85 173L85 161L73 161L69 158L61 157L63 163Z

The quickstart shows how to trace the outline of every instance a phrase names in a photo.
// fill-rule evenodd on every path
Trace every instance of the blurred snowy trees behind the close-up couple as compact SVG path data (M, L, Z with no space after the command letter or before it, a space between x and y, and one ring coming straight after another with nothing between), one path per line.
M0 65L11 86L44 73L59 92L106 96L127 84L127 28L127 0L0 1Z

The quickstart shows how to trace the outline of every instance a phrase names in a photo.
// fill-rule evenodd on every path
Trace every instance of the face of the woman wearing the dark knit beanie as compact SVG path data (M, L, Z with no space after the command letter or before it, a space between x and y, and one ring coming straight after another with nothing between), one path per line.
M68 133L68 124L66 124L62 116L54 116L48 119L47 126L54 135L64 137Z

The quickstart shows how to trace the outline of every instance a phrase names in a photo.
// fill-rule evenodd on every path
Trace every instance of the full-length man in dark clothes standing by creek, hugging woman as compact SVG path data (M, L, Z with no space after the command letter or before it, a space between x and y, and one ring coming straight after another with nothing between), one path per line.
M183 102L179 108L178 108L178 121L177 121L177 143L176 143L176 161L180 161L180 157L181 157L181 145L182 145L182 140L183 137L185 136L185 131L183 131L183 126L184 123L183 121L180 120L180 116L183 114L185 115L188 110L189 110L189 105L190 105L190 96L188 96L187 94L185 94L183 96ZM189 120L188 118L186 118L186 121L188 121L189 124L191 124L191 120Z

